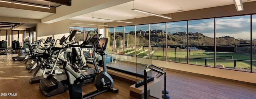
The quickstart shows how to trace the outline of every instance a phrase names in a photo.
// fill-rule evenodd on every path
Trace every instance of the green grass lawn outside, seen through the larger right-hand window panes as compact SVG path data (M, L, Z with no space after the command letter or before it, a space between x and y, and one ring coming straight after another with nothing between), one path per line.
M172 60L175 62L181 62L186 63L186 51L180 51L180 52L174 52L174 51L168 51L167 56L168 60ZM163 55L162 51L156 51L152 59L156 59L156 56L158 56L158 60L165 60L165 57L159 57L159 56L165 56ZM201 58L201 59L196 59ZM207 59L210 58L210 59ZM216 53L216 65L222 64L225 67L234 67L234 60L220 60L220 59L239 59L241 61L236 61L236 67L250 67L250 61L244 61L244 60L250 60L250 56L242 55L239 53L233 53L233 52L217 52ZM205 60L206 59L206 60ZM256 60L255 57L252 58L253 60ZM214 52L205 52L205 51L191 51L189 52L189 63L190 64L196 64L196 65L205 65L210 64L214 65ZM256 67L256 62L253 62L253 66Z

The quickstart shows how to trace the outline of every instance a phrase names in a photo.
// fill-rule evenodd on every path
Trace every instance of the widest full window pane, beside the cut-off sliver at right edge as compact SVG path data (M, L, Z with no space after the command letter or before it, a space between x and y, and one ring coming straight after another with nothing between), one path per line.
M215 67L250 71L250 16L216 18Z

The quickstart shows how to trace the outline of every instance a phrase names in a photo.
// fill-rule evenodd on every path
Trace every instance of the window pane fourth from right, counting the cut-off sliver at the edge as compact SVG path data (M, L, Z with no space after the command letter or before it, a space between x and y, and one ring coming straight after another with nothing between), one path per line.
M167 23L167 60L187 63L187 22Z

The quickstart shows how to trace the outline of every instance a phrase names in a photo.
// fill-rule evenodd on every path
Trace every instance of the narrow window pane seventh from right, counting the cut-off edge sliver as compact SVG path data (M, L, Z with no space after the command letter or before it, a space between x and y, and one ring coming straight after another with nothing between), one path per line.
M124 53L125 55L134 56L135 55L135 26L125 26L124 27Z

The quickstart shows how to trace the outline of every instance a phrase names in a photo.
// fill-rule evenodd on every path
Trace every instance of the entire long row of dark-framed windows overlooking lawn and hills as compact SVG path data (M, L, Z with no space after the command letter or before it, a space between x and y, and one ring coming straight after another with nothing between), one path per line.
M136 69L138 63L151 63L145 63L146 59L167 59L166 61L255 72L256 15L252 15L252 41L250 16L107 28L106 36L110 38L110 45L112 44L108 49L112 48L110 53L116 53L117 57L137 57ZM121 60L133 61L127 57ZM138 70L136 73L139 73Z

